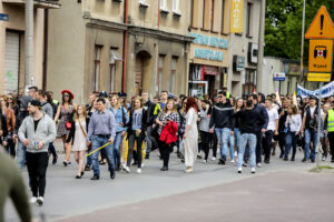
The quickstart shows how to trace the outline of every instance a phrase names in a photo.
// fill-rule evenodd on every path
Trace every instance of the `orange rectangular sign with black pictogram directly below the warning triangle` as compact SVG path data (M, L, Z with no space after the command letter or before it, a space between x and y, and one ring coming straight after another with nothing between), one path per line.
M308 71L331 72L332 54L333 54L333 40L324 40L324 39L310 40Z

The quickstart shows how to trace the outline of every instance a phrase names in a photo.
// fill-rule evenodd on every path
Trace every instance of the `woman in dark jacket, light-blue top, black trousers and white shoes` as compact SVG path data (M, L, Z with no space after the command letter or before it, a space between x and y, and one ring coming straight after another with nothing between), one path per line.
M127 165L124 168L127 173L130 172L130 165L132 161L132 153L135 149L135 142L137 142L137 173L141 173L143 164L143 142L145 140L147 111L143 109L143 100L140 97L135 97L132 105L130 108L130 120L127 124L127 140L128 140L128 157Z

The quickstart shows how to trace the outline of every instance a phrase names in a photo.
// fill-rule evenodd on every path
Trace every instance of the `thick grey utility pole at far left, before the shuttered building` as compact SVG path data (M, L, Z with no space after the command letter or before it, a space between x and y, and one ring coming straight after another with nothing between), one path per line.
M33 84L33 0L26 0L26 62L24 85Z

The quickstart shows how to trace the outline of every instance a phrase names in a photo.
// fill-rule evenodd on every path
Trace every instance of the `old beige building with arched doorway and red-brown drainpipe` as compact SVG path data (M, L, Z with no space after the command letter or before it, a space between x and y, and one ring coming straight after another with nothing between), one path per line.
M47 88L129 95L187 91L188 1L60 1L49 19Z

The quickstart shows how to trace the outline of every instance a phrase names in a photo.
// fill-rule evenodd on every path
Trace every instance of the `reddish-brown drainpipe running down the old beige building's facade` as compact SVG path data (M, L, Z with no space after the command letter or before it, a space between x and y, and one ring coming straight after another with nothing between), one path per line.
M125 0L124 23L128 24L128 0ZM128 48L128 28L124 31L124 48L122 48L122 87L121 91L127 90L127 48Z

